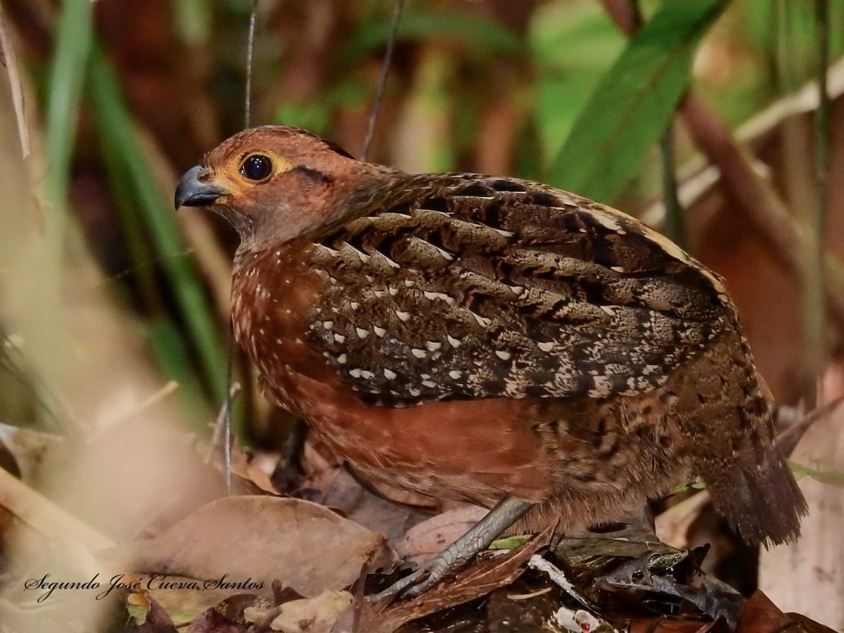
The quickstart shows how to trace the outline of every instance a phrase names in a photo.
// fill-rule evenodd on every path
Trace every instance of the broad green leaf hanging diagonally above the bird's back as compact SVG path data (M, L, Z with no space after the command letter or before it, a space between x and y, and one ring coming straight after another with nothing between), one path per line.
M611 201L665 131L692 54L728 0L667 0L606 73L551 166L549 181Z

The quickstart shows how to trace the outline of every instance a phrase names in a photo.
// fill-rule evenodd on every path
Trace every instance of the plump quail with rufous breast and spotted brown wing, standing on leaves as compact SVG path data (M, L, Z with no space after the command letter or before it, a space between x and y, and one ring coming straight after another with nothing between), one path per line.
M695 476L748 543L798 536L803 495L723 280L636 219L288 126L221 143L181 205L240 234L232 321L268 399L365 476L491 508L387 593L514 523L617 521Z

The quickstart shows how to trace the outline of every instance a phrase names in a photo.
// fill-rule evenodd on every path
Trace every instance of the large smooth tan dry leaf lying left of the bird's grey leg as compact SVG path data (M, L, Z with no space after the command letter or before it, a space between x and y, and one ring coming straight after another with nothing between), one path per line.
M251 579L263 592L278 580L306 597L349 587L367 560L393 559L381 534L309 501L268 496L212 501L133 553L138 571Z

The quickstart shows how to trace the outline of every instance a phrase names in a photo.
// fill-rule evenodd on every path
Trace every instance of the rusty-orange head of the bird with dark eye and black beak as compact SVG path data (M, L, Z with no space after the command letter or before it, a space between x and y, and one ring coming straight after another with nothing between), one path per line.
M256 127L226 139L181 176L176 208L207 206L235 227L244 246L268 246L337 225L349 198L379 169L298 127Z

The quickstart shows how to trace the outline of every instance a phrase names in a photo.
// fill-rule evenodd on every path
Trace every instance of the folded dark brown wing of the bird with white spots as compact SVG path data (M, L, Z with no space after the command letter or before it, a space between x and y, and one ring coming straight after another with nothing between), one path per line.
M625 214L527 181L417 178L424 195L315 249L310 342L367 401L633 395L734 327L721 280Z

